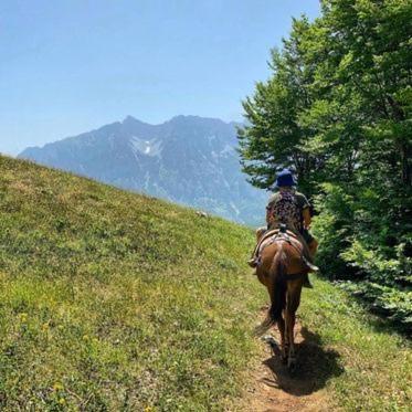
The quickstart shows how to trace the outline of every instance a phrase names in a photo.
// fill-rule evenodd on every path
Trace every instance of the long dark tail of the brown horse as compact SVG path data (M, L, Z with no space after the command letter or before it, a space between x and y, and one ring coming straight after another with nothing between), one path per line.
M271 276L271 307L266 319L255 329L256 335L263 335L270 327L275 325L282 318L282 311L286 307L286 254L283 251L282 243L277 250L270 270Z

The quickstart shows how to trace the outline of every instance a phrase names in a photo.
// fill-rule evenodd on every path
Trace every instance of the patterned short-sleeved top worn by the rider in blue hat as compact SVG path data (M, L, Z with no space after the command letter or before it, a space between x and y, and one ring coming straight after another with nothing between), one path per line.
M282 190L271 196L267 209L267 224L271 228L285 223L299 233L304 230L303 211L310 204L305 194L295 189Z

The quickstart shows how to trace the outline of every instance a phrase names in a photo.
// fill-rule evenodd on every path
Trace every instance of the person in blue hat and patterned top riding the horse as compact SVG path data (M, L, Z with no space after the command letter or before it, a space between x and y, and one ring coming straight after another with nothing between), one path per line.
M313 258L316 254L318 242L309 232L311 222L310 204L305 194L296 191L295 186L296 181L290 170L284 169L277 175L276 188L278 188L278 191L271 196L266 207L267 228L258 229L256 237L258 241L266 231L278 228L281 223L286 224L287 229L294 232L303 243L303 257L307 261L309 268L317 271L317 267L313 264ZM249 264L252 267L256 267L255 253ZM311 287L308 278L305 285Z

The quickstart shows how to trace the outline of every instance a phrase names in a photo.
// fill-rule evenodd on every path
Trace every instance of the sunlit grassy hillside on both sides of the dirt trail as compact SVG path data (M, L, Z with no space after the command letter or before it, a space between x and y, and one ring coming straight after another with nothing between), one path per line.
M221 219L0 157L0 408L235 410L266 300L252 244ZM337 353L319 370L334 402L406 408L405 341L321 279L300 314Z

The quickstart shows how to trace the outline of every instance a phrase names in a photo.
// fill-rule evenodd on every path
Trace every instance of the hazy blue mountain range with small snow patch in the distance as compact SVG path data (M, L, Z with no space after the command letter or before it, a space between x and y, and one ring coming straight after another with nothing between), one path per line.
M267 194L241 172L235 127L198 116L160 125L128 116L19 157L255 225Z

